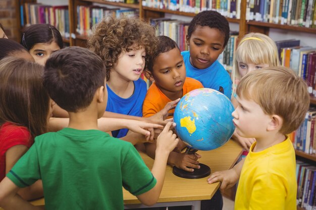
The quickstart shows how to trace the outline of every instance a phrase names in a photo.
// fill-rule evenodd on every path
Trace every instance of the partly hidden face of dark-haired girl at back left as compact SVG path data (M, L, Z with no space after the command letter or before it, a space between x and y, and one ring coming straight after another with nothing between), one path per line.
M47 43L37 43L30 49L30 54L33 56L35 62L45 65L46 60L51 53L60 50L56 42Z

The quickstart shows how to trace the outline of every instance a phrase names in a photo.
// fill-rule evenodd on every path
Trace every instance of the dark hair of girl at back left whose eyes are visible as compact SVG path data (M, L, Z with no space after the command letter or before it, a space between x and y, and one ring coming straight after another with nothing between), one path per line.
M63 37L59 30L50 24L34 24L27 27L22 34L21 44L29 51L37 43L51 43L55 41L64 48Z

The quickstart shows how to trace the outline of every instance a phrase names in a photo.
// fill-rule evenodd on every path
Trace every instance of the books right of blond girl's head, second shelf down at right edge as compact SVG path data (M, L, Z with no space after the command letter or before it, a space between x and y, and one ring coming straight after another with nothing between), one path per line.
M299 40L276 42L281 64L292 68L308 85L310 96L316 96L316 48L300 46Z

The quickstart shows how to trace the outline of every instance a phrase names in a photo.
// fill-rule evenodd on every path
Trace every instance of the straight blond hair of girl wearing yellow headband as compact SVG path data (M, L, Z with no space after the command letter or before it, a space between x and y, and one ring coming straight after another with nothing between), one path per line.
M261 33L246 34L239 42L235 55L232 72L232 96L234 96L238 81L241 79L238 62L265 63L269 64L269 66L280 65L278 48L275 42L269 36Z

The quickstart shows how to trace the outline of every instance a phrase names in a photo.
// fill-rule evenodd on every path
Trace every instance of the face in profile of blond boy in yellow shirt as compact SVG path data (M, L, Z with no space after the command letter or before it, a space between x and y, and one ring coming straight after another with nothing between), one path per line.
M265 114L259 104L253 100L237 97L238 107L232 113L237 133L242 137L261 138L266 135L271 122L270 115Z

